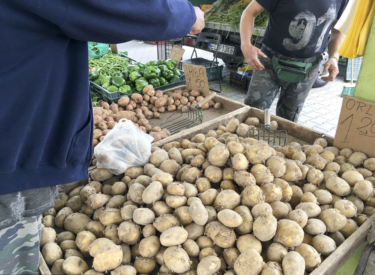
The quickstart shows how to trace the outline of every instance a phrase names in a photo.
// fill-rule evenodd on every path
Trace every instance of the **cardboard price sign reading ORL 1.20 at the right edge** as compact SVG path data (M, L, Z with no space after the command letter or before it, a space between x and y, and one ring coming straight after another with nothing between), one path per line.
M375 103L344 96L333 146L375 157Z

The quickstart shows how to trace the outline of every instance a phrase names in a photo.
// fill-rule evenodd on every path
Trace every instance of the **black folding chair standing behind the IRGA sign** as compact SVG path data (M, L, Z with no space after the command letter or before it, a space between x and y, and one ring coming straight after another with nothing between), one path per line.
M220 90L217 91L217 90L214 90L214 89L211 89L211 88L210 88L210 90L213 90L213 91L215 91L217 93L221 93L221 91L222 91L221 90L221 81L220 81L220 72L219 72L219 63L217 62L217 57L216 57L217 51L219 50L219 46L220 46L220 39L221 39L220 34L216 34L216 33L200 33L199 36L198 36L198 39L196 40L196 43L195 43L195 46L194 46L194 49L193 49L193 52L191 54L190 59L181 60L181 63L185 63L185 64L199 65L199 66L205 66L205 67L210 66L210 70L208 70L208 73L207 73L207 78L209 78L209 76L210 76L212 67L214 65L216 65L217 75L219 76ZM196 54L196 47L201 42L202 43L211 43L211 48L213 48L213 45L215 45L216 49L214 50L213 60L212 61L197 56L197 54ZM195 58L193 58L194 52L195 52ZM215 62L215 60L216 60L216 62Z

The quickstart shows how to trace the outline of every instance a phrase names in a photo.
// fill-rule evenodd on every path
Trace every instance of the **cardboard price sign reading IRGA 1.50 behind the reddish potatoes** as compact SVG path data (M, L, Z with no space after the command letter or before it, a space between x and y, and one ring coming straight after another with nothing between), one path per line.
M182 64L186 79L187 90L199 90L203 96L210 94L206 68L191 64Z

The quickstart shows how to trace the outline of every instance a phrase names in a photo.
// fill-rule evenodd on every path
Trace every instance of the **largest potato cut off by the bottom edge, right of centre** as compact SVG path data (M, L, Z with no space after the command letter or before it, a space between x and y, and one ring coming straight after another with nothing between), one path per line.
M234 262L234 271L237 275L258 275L264 266L260 254L253 248L249 248Z

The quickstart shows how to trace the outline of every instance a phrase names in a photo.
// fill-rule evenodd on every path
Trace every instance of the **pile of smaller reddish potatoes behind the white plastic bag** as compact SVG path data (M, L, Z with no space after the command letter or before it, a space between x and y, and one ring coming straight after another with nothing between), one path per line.
M143 94L132 94L132 96L121 97L117 104L109 105L104 100L93 102L94 105L98 103L100 107L94 107L94 136L93 146L95 147L104 139L104 136L113 129L113 127L121 120L126 118L133 121L134 125L145 133L150 133L154 137L154 142L159 141L170 133L167 129L160 129L160 127L152 127L149 123L151 118L160 118L160 113L173 112L182 109L187 109L186 106L195 106L195 104L202 99L200 91L198 90L177 90L163 94L162 91L155 91L152 85L147 85L143 89ZM184 107L185 106L185 107ZM209 107L220 109L221 104L210 100L204 104L200 109L207 110Z

